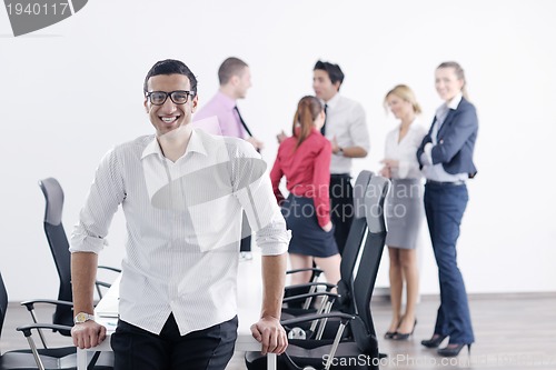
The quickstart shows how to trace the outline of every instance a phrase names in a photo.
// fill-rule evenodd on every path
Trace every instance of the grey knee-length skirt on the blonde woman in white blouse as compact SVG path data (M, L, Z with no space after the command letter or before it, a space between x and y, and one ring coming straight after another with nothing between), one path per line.
M386 201L386 246L415 249L424 216L423 184L418 179L393 179Z

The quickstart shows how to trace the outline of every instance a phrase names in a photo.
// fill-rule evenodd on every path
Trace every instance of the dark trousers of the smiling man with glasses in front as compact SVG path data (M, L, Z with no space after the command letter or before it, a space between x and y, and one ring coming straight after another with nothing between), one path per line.
M224 370L234 354L238 318L180 336L170 314L159 336L119 320L111 336L115 370Z

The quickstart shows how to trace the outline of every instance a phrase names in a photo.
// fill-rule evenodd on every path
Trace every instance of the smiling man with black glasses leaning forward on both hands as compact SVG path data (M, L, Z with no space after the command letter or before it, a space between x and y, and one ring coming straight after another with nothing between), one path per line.
M180 61L150 69L143 104L156 133L105 156L71 237L73 343L90 348L106 338L93 321L93 281L121 206L128 238L111 337L115 368L225 369L237 337L245 209L262 252L264 302L252 336L262 353L284 352L279 318L289 233L265 162L246 141L191 128L197 80Z

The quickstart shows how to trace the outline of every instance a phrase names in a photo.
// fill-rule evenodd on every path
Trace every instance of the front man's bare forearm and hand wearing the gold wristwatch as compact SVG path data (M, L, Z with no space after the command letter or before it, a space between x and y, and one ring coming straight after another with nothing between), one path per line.
M71 289L73 293L73 313L93 314L92 296L97 277L98 256L93 252L71 254ZM76 323L71 328L73 344L81 349L100 344L106 339L106 328L89 320Z

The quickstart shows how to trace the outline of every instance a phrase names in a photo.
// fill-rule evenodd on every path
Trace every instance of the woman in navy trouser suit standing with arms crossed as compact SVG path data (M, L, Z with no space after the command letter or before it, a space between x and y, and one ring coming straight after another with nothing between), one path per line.
M475 341L464 279L457 266L456 242L467 206L466 179L475 177L473 150L478 121L475 107L467 100L465 74L453 61L436 69L436 91L445 101L436 111L430 131L423 140L417 159L427 178L425 212L438 266L440 307L433 337L421 341L445 357L458 356Z

